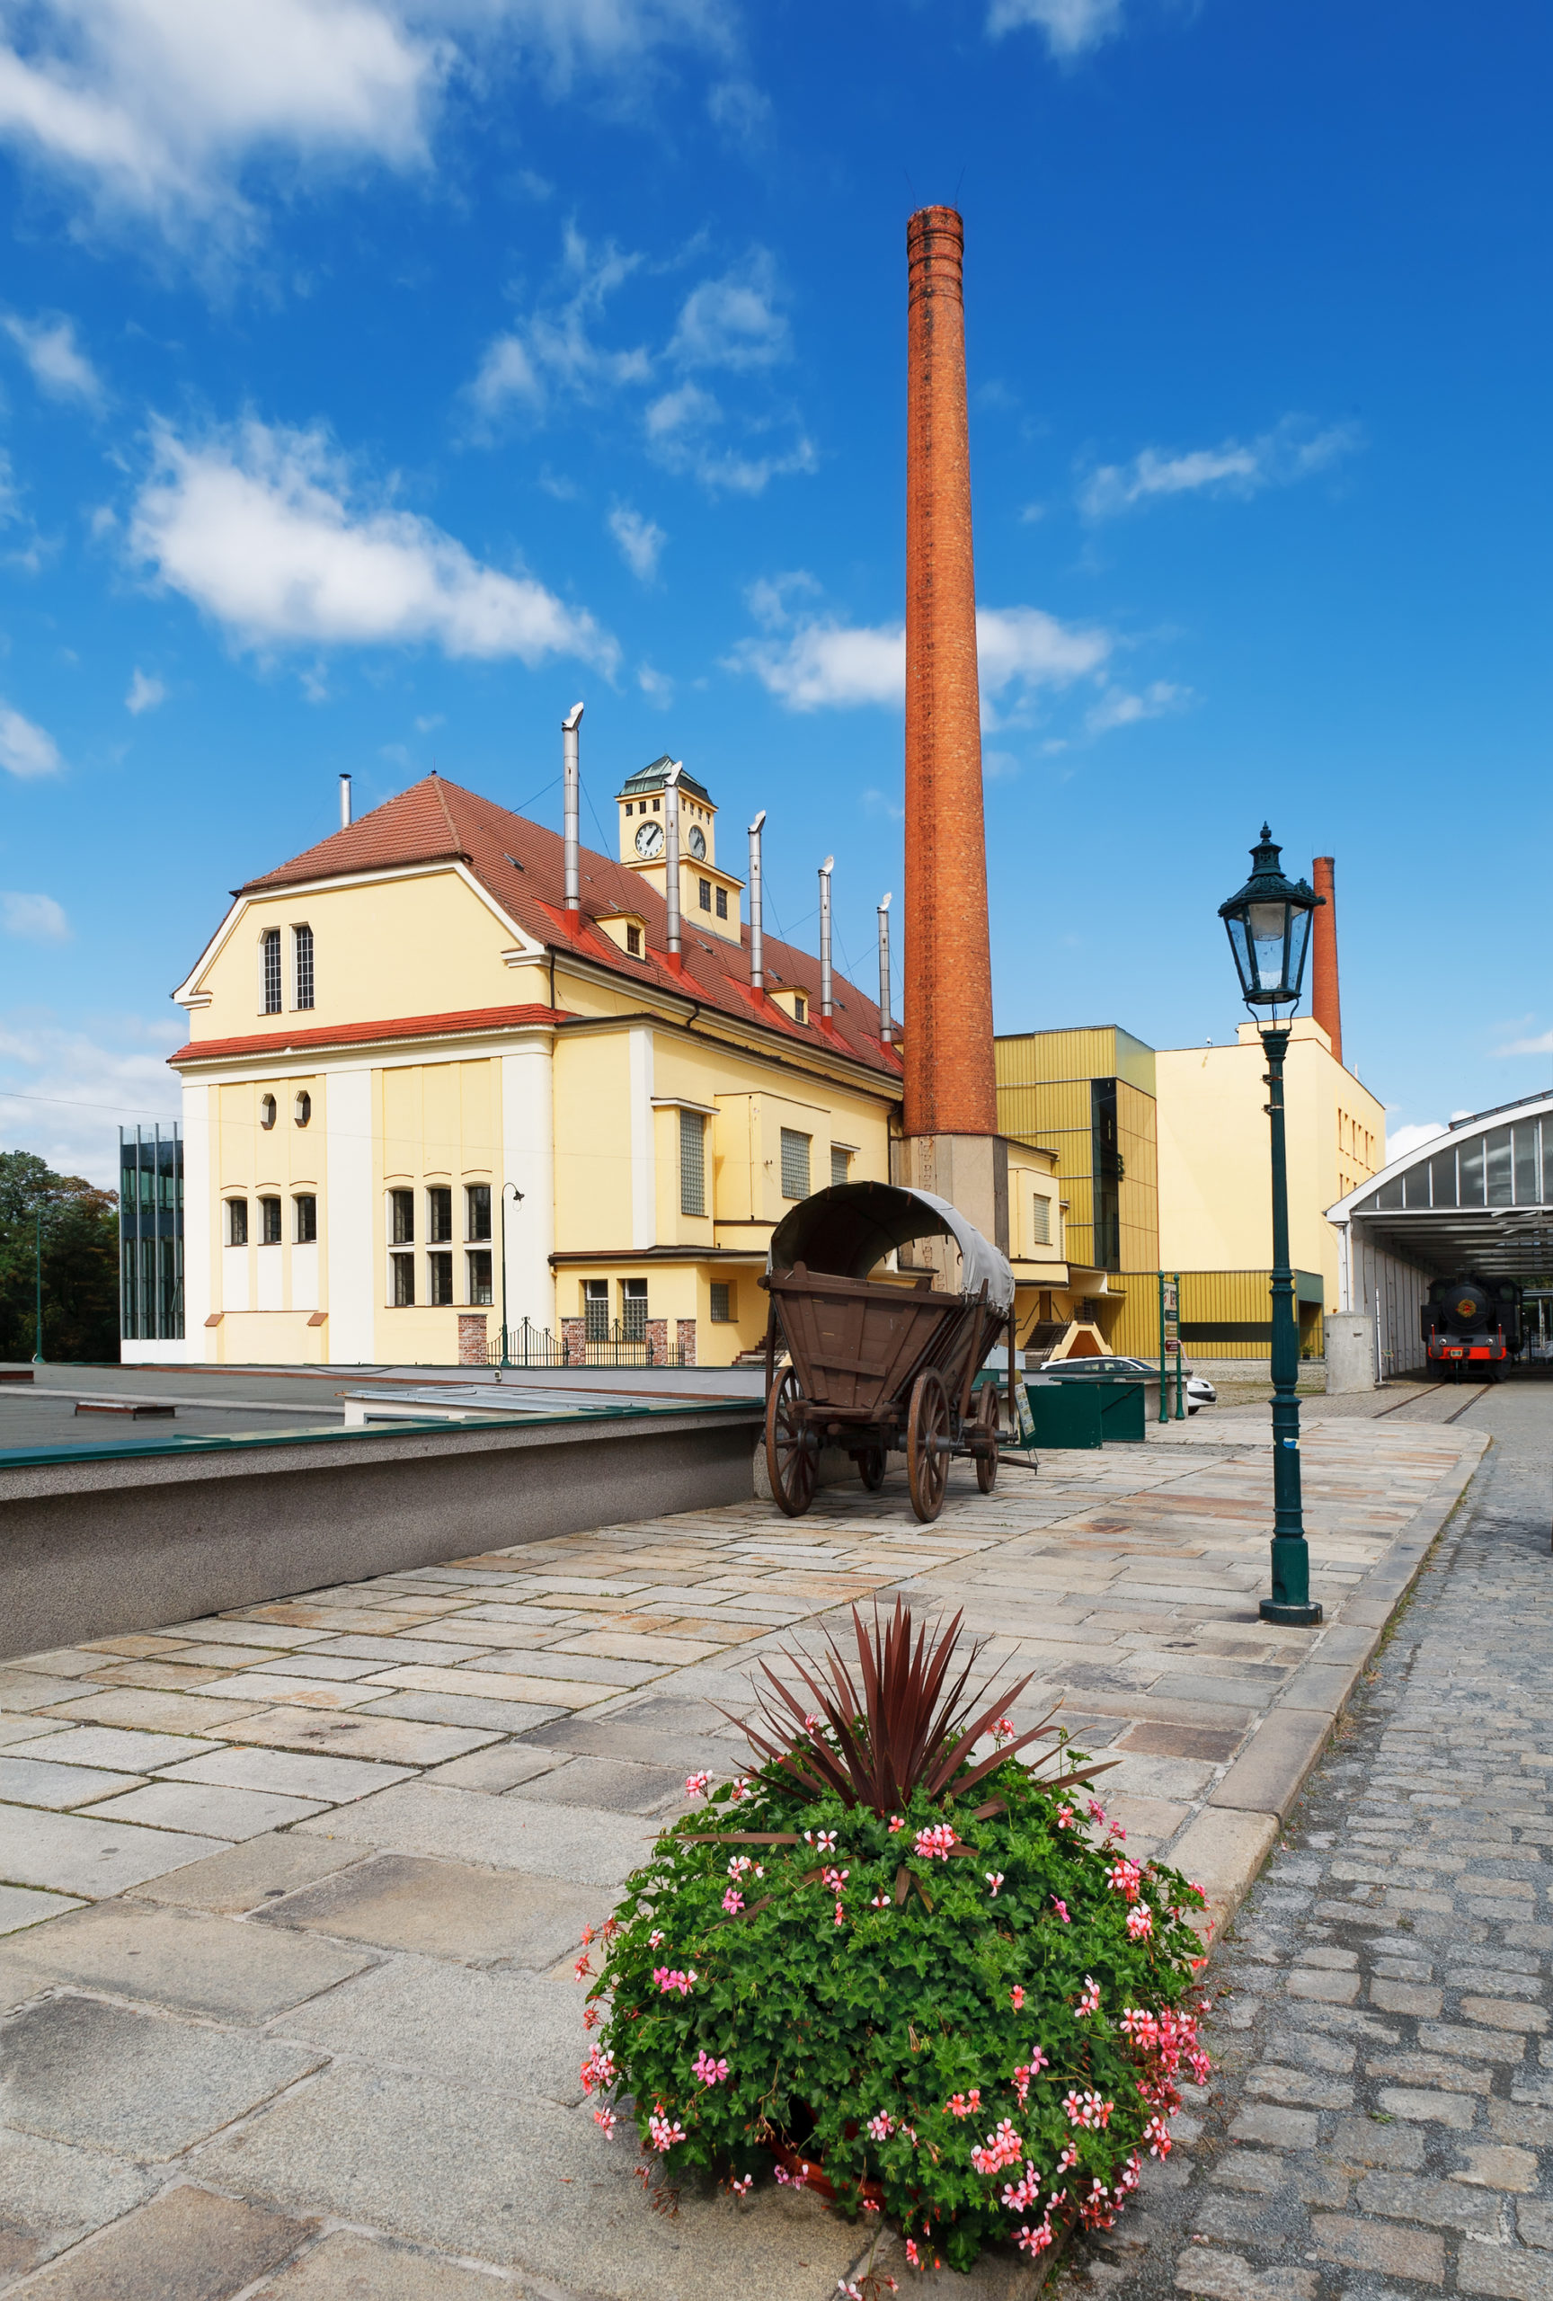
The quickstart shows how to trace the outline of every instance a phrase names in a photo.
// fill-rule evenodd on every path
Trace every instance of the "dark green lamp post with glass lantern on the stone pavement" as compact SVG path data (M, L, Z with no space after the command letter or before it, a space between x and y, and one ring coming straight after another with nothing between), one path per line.
M1284 1054L1300 1003L1311 911L1323 902L1305 879L1286 879L1268 826L1252 847L1252 877L1219 904L1235 955L1240 996L1261 1029L1268 1054L1268 1123L1272 1130L1272 1597L1263 1622L1309 1629L1321 1620L1311 1604L1311 1560L1300 1507L1300 1328L1288 1268L1288 1160L1284 1150ZM1284 1012L1279 1012L1279 1008Z

